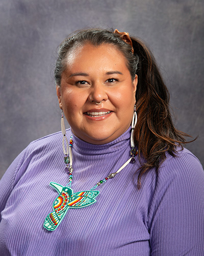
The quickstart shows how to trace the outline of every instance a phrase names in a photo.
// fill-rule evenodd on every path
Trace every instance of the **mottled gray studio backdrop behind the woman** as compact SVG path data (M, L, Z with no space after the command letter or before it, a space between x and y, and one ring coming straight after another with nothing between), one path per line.
M60 130L57 46L95 26L147 42L171 92L176 127L199 136L187 147L203 164L203 9L202 0L0 0L0 177L32 140Z

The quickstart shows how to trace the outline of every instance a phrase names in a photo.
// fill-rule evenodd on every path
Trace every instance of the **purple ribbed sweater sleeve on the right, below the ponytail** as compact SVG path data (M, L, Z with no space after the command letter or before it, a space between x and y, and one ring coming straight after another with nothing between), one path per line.
M192 154L161 168L150 216L151 256L204 255L204 172Z

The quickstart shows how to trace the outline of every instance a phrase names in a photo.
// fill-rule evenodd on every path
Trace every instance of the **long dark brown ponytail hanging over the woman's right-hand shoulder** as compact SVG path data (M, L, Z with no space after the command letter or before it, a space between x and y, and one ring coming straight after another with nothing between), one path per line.
M169 111L169 92L160 74L156 60L146 45L138 38L131 37L134 54L138 55L138 85L136 91L135 142L139 156L145 159L140 168L141 176L150 168L156 167L166 158L166 152L175 156L176 147L183 149L184 136L191 137L175 129Z

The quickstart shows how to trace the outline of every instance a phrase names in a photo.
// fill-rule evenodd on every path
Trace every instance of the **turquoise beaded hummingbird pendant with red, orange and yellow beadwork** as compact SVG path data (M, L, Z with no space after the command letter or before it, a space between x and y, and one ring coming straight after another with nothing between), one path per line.
M73 193L71 187L50 182L59 193L59 196L53 203L53 212L47 215L44 221L44 228L49 231L55 230L65 217L69 208L83 208L96 202L95 197L98 196L99 191L87 190Z

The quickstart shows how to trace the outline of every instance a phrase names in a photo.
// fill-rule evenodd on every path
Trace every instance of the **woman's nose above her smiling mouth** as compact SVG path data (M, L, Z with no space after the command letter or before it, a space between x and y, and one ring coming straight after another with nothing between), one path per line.
M95 83L91 88L89 94L89 101L99 103L102 101L106 101L107 99L108 94L105 86L103 86L103 84L100 84L99 82L97 84Z

